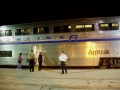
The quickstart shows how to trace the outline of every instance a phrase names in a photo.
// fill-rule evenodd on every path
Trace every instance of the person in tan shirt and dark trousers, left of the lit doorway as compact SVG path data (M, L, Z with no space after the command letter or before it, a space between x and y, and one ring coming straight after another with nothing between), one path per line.
M28 55L29 58L29 69L30 72L34 72L34 59L35 59L35 55L33 53L33 50L31 50L31 52Z

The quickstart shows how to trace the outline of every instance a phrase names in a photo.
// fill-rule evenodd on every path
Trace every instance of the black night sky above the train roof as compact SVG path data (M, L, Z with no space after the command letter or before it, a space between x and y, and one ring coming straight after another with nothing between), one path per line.
M15 3L15 2L14 2ZM55 2L54 2L55 3ZM119 7L112 2L36 2L36 3L15 3L0 6L0 25L91 18L91 17L107 17L120 16Z

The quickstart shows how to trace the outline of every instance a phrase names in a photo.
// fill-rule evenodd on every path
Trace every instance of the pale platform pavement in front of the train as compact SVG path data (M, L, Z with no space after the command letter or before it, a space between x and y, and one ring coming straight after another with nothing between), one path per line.
M0 68L0 90L120 90L120 69Z

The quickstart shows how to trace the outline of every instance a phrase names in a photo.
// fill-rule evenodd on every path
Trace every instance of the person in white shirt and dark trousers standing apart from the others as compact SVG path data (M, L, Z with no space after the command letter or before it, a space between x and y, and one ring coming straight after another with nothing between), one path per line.
M60 63L61 63L61 69L62 69L62 73L61 74L64 74L64 70L67 74L67 68L66 68L66 61L67 61L68 57L67 55L64 54L64 51L61 52L60 56L59 56L59 60L60 60Z

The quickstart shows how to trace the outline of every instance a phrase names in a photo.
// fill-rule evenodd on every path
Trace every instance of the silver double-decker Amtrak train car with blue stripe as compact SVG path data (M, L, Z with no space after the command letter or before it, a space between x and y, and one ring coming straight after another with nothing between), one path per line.
M28 53L42 52L44 67L120 67L120 17L80 18L0 26L0 66L29 66Z

